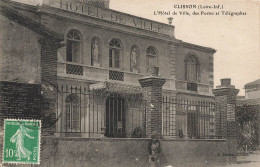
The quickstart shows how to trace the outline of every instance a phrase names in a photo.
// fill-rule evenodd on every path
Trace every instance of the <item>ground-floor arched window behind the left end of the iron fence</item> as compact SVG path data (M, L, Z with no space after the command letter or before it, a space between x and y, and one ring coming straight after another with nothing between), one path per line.
M70 94L65 99L65 103L66 103L66 130L67 132L77 132L80 130L79 98L76 94Z

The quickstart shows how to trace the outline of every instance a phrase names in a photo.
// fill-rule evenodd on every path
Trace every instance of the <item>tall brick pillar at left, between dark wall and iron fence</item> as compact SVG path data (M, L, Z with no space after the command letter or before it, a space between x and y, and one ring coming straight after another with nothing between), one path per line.
M56 129L57 112L57 51L62 45L46 38L41 44L41 85L42 85L42 135L53 135Z

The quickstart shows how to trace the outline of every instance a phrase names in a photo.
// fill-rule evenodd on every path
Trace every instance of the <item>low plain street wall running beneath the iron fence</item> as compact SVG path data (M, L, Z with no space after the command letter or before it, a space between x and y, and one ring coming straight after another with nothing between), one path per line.
M148 141L148 139L42 137L39 166L146 167ZM164 165L208 167L225 165L236 160L235 147L228 146L226 140L162 140L161 148L161 163ZM2 140L0 143L2 154L1 149ZM0 160L1 158L2 156Z

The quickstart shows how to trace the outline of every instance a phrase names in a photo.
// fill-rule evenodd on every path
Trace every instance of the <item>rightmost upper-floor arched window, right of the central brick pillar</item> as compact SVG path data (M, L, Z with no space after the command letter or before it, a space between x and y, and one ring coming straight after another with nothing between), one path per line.
M199 81L199 63L192 55L187 56L185 59L185 73L185 79L187 81Z

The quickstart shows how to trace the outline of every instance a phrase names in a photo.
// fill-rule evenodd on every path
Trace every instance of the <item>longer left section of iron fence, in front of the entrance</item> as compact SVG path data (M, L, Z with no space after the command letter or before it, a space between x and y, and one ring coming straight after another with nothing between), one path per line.
M139 94L91 92L61 86L57 133L68 137L143 137L145 103Z

